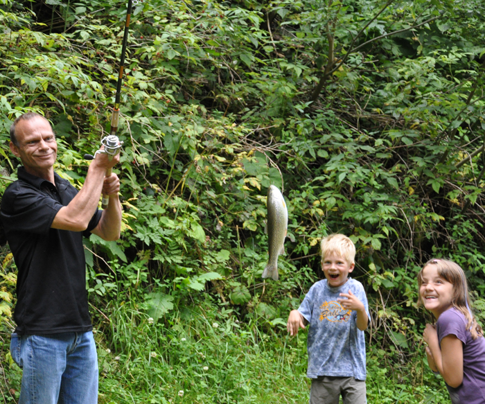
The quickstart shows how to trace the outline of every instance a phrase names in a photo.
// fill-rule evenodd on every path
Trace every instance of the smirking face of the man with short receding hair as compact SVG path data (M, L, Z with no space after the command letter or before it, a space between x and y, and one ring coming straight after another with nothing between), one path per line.
M28 173L44 177L58 157L58 143L51 124L40 116L21 120L15 127L19 146L10 142L10 150L21 159Z

